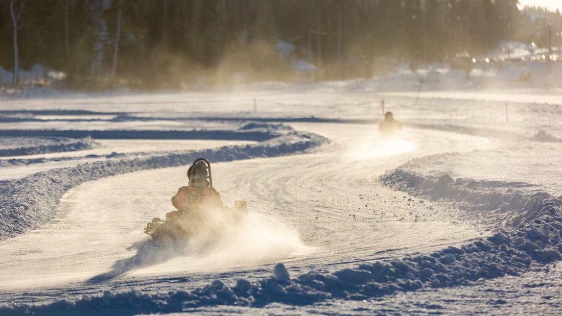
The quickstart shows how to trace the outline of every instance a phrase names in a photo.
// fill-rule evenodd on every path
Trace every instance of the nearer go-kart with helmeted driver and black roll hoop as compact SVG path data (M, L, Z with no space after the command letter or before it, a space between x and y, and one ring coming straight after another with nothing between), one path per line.
M205 166L205 173L198 178L203 185L191 185L187 193L189 206L166 213L166 219L152 218L144 233L161 244L173 244L179 240L212 239L221 234L241 229L248 215L244 200L234 201L234 208L209 205L206 196L212 189L211 163L205 158L196 159L190 168L191 177L196 178L196 165ZM201 170L201 168L199 168Z

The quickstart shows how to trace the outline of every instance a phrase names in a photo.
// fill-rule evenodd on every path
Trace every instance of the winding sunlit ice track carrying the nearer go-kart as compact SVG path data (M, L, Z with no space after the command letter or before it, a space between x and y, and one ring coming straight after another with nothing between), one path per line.
M149 280L189 280L182 287L193 288L217 274L227 281L269 276L277 262L296 273L336 271L480 235L471 223L383 187L378 178L414 157L486 149L490 141L428 130L406 130L403 140L383 141L373 125L292 126L332 143L309 154L213 164L225 204L246 199L251 213L250 230L225 248L179 256L152 249L143 226L171 210L170 197L185 184L186 168L126 173L75 187L55 221L4 241L2 253L15 260L0 263L0 290L31 302L37 298L26 295L33 288L49 300L49 293L54 299L57 288L69 283L82 294L97 294L88 280L118 291L172 286Z

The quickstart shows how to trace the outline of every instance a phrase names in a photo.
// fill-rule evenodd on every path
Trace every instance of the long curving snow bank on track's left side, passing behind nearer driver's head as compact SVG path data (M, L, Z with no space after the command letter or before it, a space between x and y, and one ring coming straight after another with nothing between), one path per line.
M53 131L53 134L56 132L58 131ZM129 136L134 137L137 131L130 132L132 134ZM181 133L181 131L170 132L172 134ZM126 172L184 166L200 157L205 157L212 162L222 162L291 154L302 152L327 141L319 135L276 127L230 132L233 135L223 131L223 134L218 136L228 139L246 137L251 140L268 140L246 146L223 146L218 149L192 150L143 158L97 161L34 173L17 180L0 181L0 239L19 235L50 221L56 215L57 204L62 195L83 182ZM201 139L203 135L215 135L216 131L188 131L186 133L194 137L199 136ZM147 135L146 131L144 131L144 135Z

